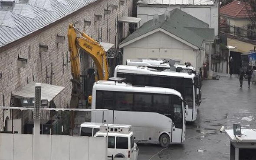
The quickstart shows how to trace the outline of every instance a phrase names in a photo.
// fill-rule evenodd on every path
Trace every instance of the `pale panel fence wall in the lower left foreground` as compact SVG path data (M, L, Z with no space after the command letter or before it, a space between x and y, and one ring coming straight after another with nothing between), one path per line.
M39 136L41 160L105 160L106 138ZM0 134L0 160L32 160L32 134Z

